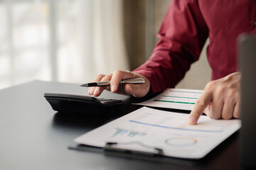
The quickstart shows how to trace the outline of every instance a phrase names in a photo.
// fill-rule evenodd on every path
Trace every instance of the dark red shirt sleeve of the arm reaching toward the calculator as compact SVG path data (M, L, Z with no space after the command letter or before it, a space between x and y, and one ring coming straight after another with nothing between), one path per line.
M208 38L198 1L173 0L158 38L149 60L134 70L149 79L153 93L176 86L198 60Z

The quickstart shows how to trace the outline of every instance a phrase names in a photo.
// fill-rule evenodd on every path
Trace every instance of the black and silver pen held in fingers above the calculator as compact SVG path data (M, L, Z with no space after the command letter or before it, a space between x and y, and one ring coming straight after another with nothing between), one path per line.
M122 84L144 84L145 79L143 78L134 78L134 79L123 79L120 81L119 85ZM110 86L110 81L96 81L92 83L82 84L80 86Z

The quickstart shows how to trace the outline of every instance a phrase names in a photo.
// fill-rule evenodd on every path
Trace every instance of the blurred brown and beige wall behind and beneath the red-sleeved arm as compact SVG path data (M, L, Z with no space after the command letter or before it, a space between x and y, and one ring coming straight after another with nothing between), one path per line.
M140 64L144 63L150 57L146 56L146 40L152 40L154 45L158 41L156 34L159 31L170 3L171 0L124 1L124 38L131 69L139 67ZM151 15L151 18L146 16L146 14ZM151 19L150 24L147 23L149 19ZM151 35L146 34L148 33L148 27L152 28ZM146 36L152 37L147 38ZM192 64L186 77L176 88L203 89L208 81L210 81L211 69L206 57L207 46L208 40L205 47L203 47L200 60ZM147 50L152 51L153 47Z

